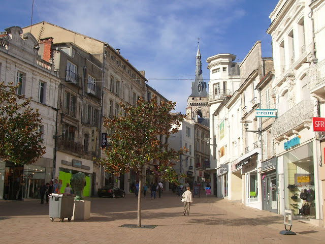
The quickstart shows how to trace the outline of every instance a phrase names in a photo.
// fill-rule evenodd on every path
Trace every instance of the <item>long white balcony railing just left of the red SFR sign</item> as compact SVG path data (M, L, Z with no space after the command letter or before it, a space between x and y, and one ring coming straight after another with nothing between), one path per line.
M272 123L272 137L277 138L301 125L313 116L313 102L303 100L290 108Z

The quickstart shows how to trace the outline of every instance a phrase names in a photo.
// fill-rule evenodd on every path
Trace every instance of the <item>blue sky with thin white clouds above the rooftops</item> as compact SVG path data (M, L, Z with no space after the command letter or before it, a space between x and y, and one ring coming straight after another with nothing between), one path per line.
M0 32L30 25L32 0L2 1ZM185 113L195 78L198 38L203 78L206 59L218 53L239 62L257 40L262 56L271 57L266 34L277 0L34 0L32 23L43 20L108 42L138 70L149 85L177 102Z

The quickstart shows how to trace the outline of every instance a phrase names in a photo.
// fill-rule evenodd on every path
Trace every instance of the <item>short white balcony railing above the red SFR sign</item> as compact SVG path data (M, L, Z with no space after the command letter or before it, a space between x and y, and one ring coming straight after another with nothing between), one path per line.
M323 92L323 87L325 87L325 59L307 70L307 87L311 93L320 88L322 88L320 91Z

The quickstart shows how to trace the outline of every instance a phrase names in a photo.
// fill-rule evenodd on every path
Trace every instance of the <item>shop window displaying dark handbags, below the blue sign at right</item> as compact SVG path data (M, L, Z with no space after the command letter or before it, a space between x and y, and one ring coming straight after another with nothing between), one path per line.
M283 156L287 182L285 207L295 216L315 218L315 182L312 143Z

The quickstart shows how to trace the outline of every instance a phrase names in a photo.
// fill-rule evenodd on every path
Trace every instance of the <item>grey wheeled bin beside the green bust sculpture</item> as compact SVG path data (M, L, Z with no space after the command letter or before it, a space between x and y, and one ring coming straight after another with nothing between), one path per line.
M54 218L59 218L60 222L63 222L65 218L68 218L68 221L71 221L73 215L73 204L74 204L75 196L76 196L75 194L54 194L54 193L49 195L50 220L53 221Z

